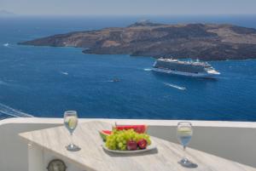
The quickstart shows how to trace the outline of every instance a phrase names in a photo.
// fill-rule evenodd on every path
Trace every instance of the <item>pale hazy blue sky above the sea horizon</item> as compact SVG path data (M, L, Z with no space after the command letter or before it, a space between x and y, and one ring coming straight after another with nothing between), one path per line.
M256 14L256 0L0 0L25 15Z

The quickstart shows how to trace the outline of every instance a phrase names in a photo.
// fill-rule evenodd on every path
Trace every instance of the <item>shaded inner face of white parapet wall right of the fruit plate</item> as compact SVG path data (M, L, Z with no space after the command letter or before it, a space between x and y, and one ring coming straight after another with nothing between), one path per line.
M149 133L177 142L176 127L154 126ZM256 128L195 127L189 147L256 168Z

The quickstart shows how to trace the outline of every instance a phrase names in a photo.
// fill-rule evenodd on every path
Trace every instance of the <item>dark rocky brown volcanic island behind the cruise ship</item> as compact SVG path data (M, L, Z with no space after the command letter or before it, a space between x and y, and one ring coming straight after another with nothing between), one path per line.
M75 31L19 44L84 48L85 54L199 60L256 59L256 29L218 24L166 25L146 20L127 27Z

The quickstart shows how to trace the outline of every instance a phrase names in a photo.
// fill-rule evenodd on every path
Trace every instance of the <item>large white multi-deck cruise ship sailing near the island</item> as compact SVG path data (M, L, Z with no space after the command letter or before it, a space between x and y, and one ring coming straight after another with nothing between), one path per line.
M216 77L220 73L207 62L158 59L154 62L153 71L189 77Z

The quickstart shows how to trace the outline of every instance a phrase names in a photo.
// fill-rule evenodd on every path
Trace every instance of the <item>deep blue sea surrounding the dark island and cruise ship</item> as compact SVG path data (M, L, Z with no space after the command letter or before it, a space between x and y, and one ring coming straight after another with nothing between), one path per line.
M127 26L141 18L0 19L0 118L62 117L63 111L76 110L79 117L256 121L256 60L210 62L222 75L209 80L154 73L154 59L143 56L16 44L67 31ZM256 28L255 15L148 18Z

